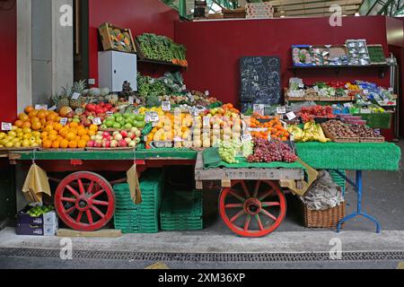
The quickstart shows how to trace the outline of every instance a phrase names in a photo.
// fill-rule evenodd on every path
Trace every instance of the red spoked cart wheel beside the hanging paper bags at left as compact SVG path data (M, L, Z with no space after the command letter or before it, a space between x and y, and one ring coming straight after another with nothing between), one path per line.
M79 171L57 186L55 207L60 219L74 230L93 231L105 226L115 211L115 194L107 179Z

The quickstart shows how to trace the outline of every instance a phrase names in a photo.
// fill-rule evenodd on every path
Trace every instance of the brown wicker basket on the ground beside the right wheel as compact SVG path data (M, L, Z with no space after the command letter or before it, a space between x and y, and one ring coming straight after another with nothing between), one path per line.
M310 210L303 202L302 205L304 227L337 228L338 222L345 216L345 202L327 210ZM344 227L344 223L341 227Z

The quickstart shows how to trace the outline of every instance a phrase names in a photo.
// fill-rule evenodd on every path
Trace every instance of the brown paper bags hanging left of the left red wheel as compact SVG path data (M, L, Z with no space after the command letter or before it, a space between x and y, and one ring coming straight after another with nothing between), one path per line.
M51 196L47 173L35 163L31 165L25 178L22 193L32 203L41 203L43 194Z

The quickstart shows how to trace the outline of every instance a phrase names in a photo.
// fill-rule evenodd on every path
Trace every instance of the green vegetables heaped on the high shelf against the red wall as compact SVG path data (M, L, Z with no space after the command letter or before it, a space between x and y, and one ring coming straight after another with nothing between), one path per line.
M137 36L136 40L145 58L188 66L187 49L174 43L172 39L153 33L145 33Z

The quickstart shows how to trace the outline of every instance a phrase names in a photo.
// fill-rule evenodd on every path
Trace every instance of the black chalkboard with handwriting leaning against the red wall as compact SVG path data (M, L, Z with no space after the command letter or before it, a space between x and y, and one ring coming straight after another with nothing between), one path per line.
M241 100L249 104L275 105L281 101L279 57L242 57Z

